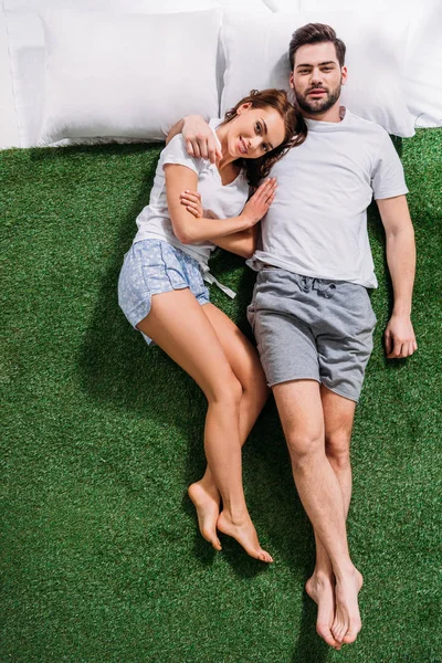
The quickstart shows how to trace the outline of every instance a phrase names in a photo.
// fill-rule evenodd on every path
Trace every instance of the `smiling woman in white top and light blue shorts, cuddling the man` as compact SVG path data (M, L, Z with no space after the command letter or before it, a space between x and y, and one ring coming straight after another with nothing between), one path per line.
M253 346L210 304L203 280L228 291L209 273L210 253L215 245L253 253L256 223L272 203L276 182L267 179L248 201L250 186L304 140L306 128L285 92L276 90L252 91L210 126L222 151L215 164L190 157L181 135L161 152L150 202L137 218L138 233L125 255L118 301L146 341L159 345L207 397L208 469L189 487L201 534L220 550L218 528L270 562L245 505L241 471L241 446L267 387ZM203 217L191 193L197 189Z

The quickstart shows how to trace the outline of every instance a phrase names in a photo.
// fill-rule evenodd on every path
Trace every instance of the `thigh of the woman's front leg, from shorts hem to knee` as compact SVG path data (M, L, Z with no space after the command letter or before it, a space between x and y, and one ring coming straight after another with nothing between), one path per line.
M238 397L241 389L202 306L188 288L152 295L137 328L191 376L209 400Z

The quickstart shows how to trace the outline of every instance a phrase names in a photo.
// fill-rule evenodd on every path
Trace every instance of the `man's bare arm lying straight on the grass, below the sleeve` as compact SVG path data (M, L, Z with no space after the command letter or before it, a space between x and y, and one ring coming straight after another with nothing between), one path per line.
M393 286L393 311L385 332L389 359L409 357L417 349L411 324L415 271L414 231L404 196L376 201L387 238L387 263Z

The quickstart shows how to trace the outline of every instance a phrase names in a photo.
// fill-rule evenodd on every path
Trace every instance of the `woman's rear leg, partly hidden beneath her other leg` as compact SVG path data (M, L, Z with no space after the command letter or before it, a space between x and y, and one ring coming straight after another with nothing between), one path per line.
M230 367L242 387L240 443L243 445L269 398L270 389L255 348L230 317L213 304L204 304L202 311L212 325ZM209 466L204 476L189 486L189 496L197 508L202 536L217 544L220 493Z

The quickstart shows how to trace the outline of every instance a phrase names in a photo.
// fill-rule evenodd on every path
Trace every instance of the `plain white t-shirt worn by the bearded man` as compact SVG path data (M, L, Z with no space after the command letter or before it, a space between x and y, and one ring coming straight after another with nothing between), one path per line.
M345 110L341 122L307 119L308 136L272 168L277 190L261 222L262 249L248 261L377 287L367 233L372 198L408 193L387 131Z

